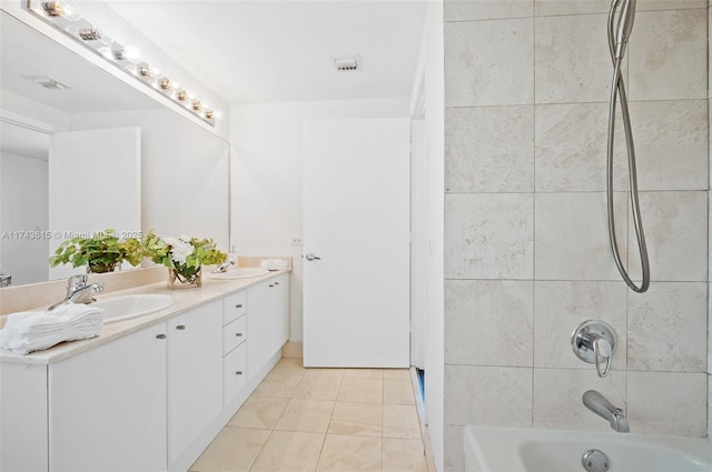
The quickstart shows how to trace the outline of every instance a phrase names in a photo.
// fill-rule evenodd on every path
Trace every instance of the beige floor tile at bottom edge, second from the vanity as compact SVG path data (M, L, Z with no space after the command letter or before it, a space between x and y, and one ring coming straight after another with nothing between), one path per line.
M315 471L324 434L273 431L250 472Z

